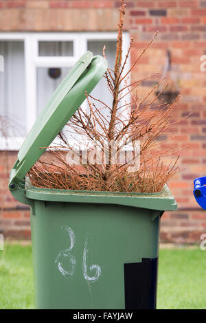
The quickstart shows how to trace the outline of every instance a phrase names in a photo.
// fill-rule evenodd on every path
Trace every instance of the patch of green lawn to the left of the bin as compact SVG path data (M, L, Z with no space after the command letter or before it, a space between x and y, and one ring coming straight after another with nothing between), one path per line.
M32 247L4 247L0 250L0 309L33 309Z

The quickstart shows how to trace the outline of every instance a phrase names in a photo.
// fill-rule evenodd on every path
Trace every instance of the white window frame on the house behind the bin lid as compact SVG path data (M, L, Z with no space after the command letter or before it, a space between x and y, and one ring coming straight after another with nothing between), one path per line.
M25 57L25 107L26 132L28 133L37 117L38 67L73 67L78 58L87 50L87 41L116 41L117 32L0 32L0 41L23 41ZM38 56L38 41L73 41L73 56ZM128 32L123 34L123 57L130 43ZM129 62L128 62L129 66ZM0 137L0 150L17 151L25 137ZM14 144L15 142L15 144Z

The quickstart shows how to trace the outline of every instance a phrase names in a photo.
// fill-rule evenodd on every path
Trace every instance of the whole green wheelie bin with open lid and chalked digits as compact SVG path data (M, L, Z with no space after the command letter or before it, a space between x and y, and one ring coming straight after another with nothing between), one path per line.
M9 188L31 207L37 309L155 309L159 224L176 210L159 193L36 188L27 172L100 81L101 56L85 53L38 116L10 172Z

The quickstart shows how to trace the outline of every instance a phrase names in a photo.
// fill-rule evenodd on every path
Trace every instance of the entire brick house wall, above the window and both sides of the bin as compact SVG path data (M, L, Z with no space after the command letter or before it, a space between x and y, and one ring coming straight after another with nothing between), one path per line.
M119 1L0 1L0 32L106 32L117 30ZM174 119L192 115L172 127L176 134L162 148L181 151L183 170L169 186L179 204L176 212L165 212L161 221L161 241L200 243L206 232L206 212L198 207L192 194L193 179L206 175L206 72L200 69L206 54L206 1L155 0L126 1L126 30L135 39L131 61L143 49L154 32L155 42L135 67L132 79L161 72L167 49L172 53L181 99ZM155 79L156 81L158 78ZM151 89L154 80L143 82L139 96ZM167 135L165 135L166 139ZM8 170L16 152L0 153L1 213L5 236L30 237L29 210L15 201L7 189Z

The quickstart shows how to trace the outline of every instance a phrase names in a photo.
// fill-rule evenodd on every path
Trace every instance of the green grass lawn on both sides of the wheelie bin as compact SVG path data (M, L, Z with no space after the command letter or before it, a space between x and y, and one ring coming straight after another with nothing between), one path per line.
M206 308L206 251L161 249L158 309ZM0 251L0 309L33 309L32 248Z

